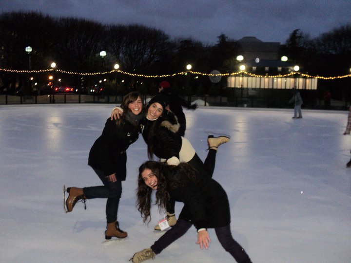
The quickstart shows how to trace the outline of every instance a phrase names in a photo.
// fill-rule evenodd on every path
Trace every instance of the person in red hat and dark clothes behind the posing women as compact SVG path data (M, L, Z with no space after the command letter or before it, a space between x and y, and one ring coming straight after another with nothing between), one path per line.
M182 106L186 107L187 109L195 110L197 105L191 105L187 101L179 97L174 92L168 81L162 81L158 84L158 92L168 97L170 102L170 110L177 116L178 122L180 124L178 133L180 134L180 136L184 136L186 130L186 118Z

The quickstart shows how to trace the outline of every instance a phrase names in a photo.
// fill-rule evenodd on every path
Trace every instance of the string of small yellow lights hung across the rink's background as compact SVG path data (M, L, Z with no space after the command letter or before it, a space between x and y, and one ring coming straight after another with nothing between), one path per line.
M60 69L10 70L10 69L2 69L2 68L0 68L0 71L9 72L9 73L25 73L25 74L35 74L35 73L45 73L45 72L55 71L55 72L59 72L59 73L62 73L62 74L82 75L82 76L106 75L106 74L112 74L112 73L120 73L120 74L124 74L124 75L129 75L129 76L146 77L146 78L172 77L172 76L176 76L176 75L187 75L188 73L191 73L193 75L202 75L202 76L248 75L248 76L253 76L253 77L268 77L268 78L277 78L277 77L288 77L288 76L293 76L293 75L301 75L303 77L326 79L326 80L351 77L351 74L341 75L341 76L325 77L325 76L318 76L318 75L312 76L312 75L303 74L303 73L300 73L300 72L291 72L291 73L284 74L284 75L256 75L256 74L249 73L249 72L246 72L246 71L239 71L239 72L225 73L225 74L210 74L210 73L202 73L202 72L195 72L195 71L185 71L185 72L178 72L178 73L174 73L174 74L165 74L165 75L144 75L144 74L136 74L136 73L124 72L124 71L121 71L121 70L111 70L111 71L106 71L106 72L94 72L94 73L79 73L79 72L64 71L64 70L60 70Z

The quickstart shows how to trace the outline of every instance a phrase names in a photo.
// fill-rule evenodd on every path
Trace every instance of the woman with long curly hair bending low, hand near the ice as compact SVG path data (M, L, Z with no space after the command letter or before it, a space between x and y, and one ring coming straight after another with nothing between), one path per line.
M156 190L155 204L160 209L167 207L170 199L184 203L184 207L176 225L151 248L134 254L133 263L155 258L168 245L183 236L192 225L197 229L196 244L199 244L201 249L208 249L211 242L207 228L215 228L220 244L236 262L251 263L245 250L233 239L227 194L210 174L204 176L186 163L169 166L147 161L142 164L138 175L137 208L144 223L150 222L153 190Z

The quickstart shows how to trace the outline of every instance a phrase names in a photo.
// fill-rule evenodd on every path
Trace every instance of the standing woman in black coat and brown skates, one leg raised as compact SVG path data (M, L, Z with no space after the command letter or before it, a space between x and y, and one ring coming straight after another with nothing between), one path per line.
M134 143L141 131L140 120L143 116L141 96L137 92L127 94L121 104L123 116L118 120L107 119L102 134L89 152L88 165L91 166L103 186L67 188L66 211L71 212L81 200L107 198L105 238L125 238L127 232L119 228L117 210L122 193L122 181L126 179L126 150Z

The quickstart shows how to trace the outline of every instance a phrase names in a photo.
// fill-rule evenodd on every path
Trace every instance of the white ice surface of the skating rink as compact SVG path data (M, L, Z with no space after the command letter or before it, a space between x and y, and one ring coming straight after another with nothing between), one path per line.
M128 149L127 180L118 211L125 240L103 244L105 199L63 211L62 187L101 185L87 165L112 104L0 107L0 262L128 262L161 233L143 225L135 206L137 169L147 160L139 137ZM186 137L201 159L207 135L226 133L214 178L227 191L232 233L254 263L351 262L351 137L347 111L200 107L185 111ZM176 205L179 213L181 204ZM161 262L234 262L209 230L200 250L192 227L157 255Z

